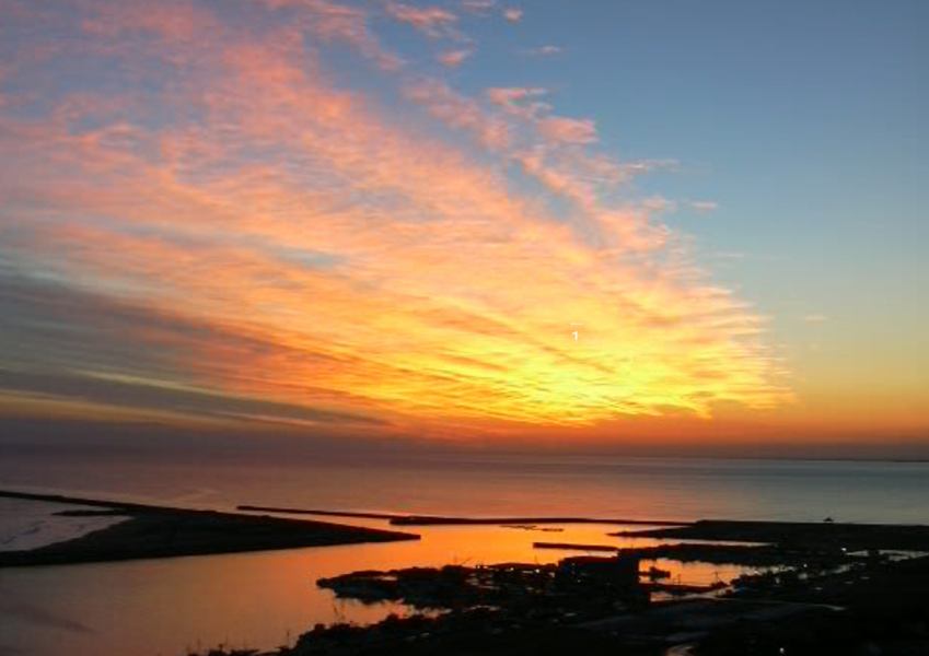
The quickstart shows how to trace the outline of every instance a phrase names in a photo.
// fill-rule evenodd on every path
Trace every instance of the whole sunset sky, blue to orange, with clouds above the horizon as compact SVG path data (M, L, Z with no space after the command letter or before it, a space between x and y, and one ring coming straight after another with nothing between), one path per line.
M929 454L927 31L0 0L0 433Z

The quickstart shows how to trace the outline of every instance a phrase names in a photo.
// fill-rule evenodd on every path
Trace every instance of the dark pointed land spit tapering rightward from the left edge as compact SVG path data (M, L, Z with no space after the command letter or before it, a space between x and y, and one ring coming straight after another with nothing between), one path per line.
M2 551L0 567L419 539L419 536L414 534L326 522L196 511L58 494L0 490L0 497L101 508L65 511L69 514L92 513L126 517L125 522L63 542L24 551Z

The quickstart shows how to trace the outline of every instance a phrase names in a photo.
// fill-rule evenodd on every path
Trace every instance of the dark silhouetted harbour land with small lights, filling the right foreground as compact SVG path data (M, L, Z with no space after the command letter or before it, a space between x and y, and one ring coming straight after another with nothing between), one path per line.
M339 597L399 600L427 612L372 626L317 625L267 654L929 655L926 527L705 522L654 532L765 543L669 544L558 565L414 567L321 579ZM659 552L763 569L713 595L654 601L657 588L638 561Z

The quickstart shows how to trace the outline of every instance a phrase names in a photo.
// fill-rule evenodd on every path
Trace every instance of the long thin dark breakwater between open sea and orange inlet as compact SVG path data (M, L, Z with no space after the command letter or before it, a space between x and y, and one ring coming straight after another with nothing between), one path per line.
M689 522L667 519L616 519L597 517L448 517L441 515L404 515L396 513L356 513L350 511L320 511L258 505L240 505L236 509L287 515L320 515L329 517L358 517L387 519L396 526L445 526L445 525L523 525L536 524L628 524L632 526L687 526Z

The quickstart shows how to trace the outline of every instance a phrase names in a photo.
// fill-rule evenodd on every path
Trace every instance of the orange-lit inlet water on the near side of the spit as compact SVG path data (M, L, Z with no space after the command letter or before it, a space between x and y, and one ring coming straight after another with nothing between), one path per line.
M353 524L384 526L382 522ZM534 541L643 547L614 538L616 525L560 526L558 532L499 526L417 527L418 541L276 552L0 571L4 646L34 656L182 655L219 643L272 647L317 622L372 622L396 605L364 606L316 587L322 576L361 569L446 563L556 562L572 552ZM645 563L647 567L650 563ZM741 567L658 561L684 583L730 579Z

